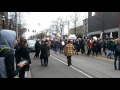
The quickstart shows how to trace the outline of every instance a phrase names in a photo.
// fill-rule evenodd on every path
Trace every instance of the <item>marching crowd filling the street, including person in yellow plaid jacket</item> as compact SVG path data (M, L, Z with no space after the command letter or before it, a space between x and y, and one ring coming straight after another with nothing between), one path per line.
M55 40L51 41L50 47L55 53L58 51L64 53L68 61L69 59L71 61L72 55L78 55L79 53L86 56L92 55L97 57L98 55L104 55L107 58L113 58L115 70L117 70L116 61L118 58L118 69L120 70L120 39L78 38L76 40ZM68 66L71 65L69 63Z

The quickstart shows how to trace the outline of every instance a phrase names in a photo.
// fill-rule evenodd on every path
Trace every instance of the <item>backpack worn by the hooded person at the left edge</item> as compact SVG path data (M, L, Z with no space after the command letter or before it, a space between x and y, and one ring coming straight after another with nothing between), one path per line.
M5 55L10 52L10 48L5 45L0 45L0 78L7 78Z

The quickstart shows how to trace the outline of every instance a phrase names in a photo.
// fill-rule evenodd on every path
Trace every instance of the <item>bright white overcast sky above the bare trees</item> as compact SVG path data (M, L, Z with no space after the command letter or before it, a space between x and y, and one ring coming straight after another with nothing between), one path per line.
M80 15L80 20L82 23L82 20L87 17L87 12L77 12ZM52 24L51 22L56 20L59 17L62 17L64 20L67 19L70 20L70 16L72 16L74 12L27 12L27 14L24 14L24 21L26 24L26 27L30 30L30 32L26 32L26 35L33 35L32 30L36 30L37 32L40 32L44 29L49 28L49 26ZM73 25L70 24L70 28L72 28ZM67 26L64 28L64 34L68 33Z

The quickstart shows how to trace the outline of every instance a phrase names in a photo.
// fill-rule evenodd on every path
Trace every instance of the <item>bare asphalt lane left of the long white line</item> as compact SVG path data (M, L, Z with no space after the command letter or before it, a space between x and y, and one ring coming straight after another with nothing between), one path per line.
M53 57L49 57L48 67L41 66L40 59L34 59L34 53L31 53L32 66L31 77L32 78L89 78L88 76L73 69L73 67L67 66L59 60Z

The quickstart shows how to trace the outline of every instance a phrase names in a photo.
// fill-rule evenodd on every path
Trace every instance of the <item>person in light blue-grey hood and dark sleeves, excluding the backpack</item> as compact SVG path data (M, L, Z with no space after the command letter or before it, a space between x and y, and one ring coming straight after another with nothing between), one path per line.
M11 49L10 52L6 53L5 55L5 66L6 66L6 73L7 78L14 78L21 68L25 65L23 63L18 63L18 68L15 70L15 61L14 61L14 42L16 39L15 31L11 30L1 30L0 31L0 46L5 45ZM0 54L1 57L2 54Z

